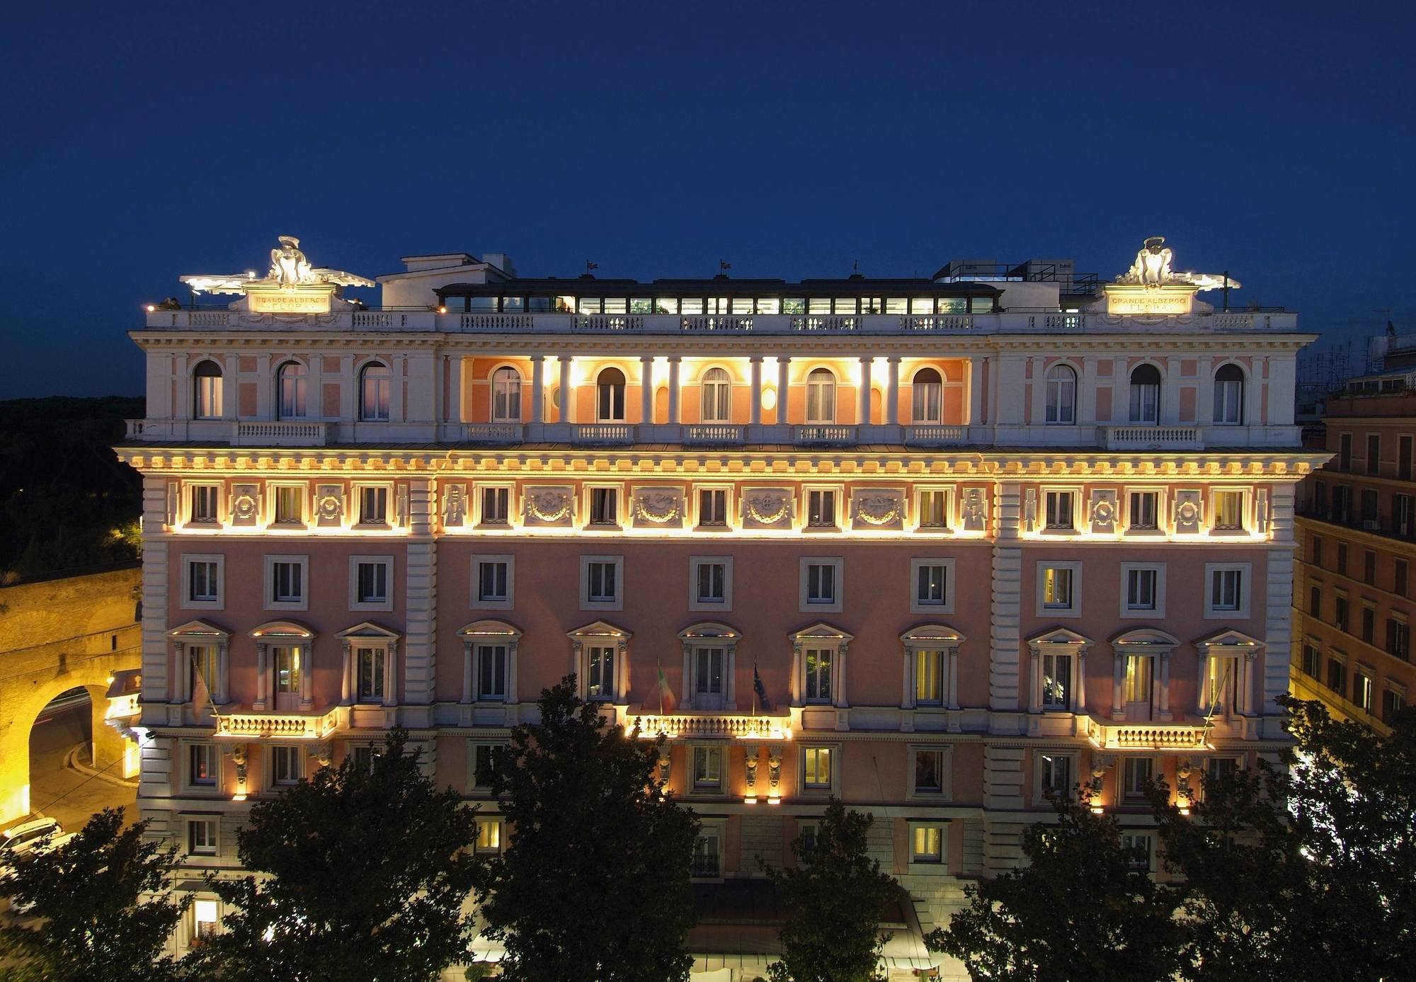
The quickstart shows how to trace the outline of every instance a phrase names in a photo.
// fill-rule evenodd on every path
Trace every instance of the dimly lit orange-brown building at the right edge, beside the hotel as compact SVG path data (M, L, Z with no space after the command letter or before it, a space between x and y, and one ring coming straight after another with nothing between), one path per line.
M1416 391L1352 379L1324 423L1330 460L1300 485L1293 692L1385 732L1416 691Z

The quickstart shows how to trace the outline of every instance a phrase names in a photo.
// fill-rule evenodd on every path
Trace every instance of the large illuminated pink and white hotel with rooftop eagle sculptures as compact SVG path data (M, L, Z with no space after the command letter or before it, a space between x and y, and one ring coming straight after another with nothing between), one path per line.
M828 795L868 807L916 900L908 976L1048 788L1153 846L1148 778L1283 746L1311 335L1215 313L1161 241L1103 290L1065 260L637 283L413 256L379 310L293 239L272 259L133 333L142 805L190 882L235 867L251 798L395 723L486 799L487 747L573 671L671 737L705 884L790 862ZM218 930L201 900L178 948ZM698 969L762 974L736 937L695 931Z

